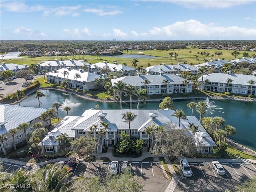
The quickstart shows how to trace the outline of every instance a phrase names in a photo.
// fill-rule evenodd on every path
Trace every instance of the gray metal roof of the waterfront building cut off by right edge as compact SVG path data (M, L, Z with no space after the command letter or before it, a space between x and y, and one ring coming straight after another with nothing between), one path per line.
M203 80L208 79L210 82L218 82L218 83L227 83L227 79L232 79L232 83L230 84L239 84L239 85L250 85L248 81L251 79L256 81L256 76L253 75L243 75L243 74L226 74L226 73L212 73L208 75L204 75ZM198 81L202 81L202 76L198 78Z

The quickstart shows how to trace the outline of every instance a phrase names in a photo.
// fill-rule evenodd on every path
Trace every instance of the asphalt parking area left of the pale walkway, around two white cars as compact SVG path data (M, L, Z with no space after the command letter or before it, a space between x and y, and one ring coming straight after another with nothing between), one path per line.
M121 164L119 162L118 174L121 174ZM145 184L146 191L165 191L170 180L166 179L161 168L160 162L129 162L131 166L130 172L141 178L141 182ZM74 168L72 177L84 174L86 177L99 176L104 178L109 174L108 162L80 162Z

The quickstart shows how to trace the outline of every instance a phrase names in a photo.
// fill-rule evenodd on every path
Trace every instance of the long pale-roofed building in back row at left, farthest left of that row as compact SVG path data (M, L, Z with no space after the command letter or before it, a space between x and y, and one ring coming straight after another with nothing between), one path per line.
M40 72L42 72L42 70L47 70L47 71L51 71L51 70L58 70L61 68L67 68L67 67L71 67L71 68L75 68L75 69L80 69L82 68L82 66L86 66L88 65L88 63L81 61L81 60L64 60L64 61L58 61L57 59L55 59L54 61L46 61L43 63L38 64L39 66L39 70Z

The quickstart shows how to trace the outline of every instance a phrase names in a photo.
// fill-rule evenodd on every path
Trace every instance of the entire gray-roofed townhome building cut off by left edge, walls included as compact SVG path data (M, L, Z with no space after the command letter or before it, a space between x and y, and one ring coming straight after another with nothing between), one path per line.
M46 126L46 122L39 119L41 114L47 109L24 107L18 105L0 104L0 134L5 134L7 140L4 140L4 146L0 143L0 150L3 151L4 147L6 150L13 146L12 134L9 130L17 128L22 123L29 123L30 127L27 129L27 134L33 130L32 126L36 122L42 122ZM14 142L18 144L25 141L25 135L23 130L18 130L14 134Z

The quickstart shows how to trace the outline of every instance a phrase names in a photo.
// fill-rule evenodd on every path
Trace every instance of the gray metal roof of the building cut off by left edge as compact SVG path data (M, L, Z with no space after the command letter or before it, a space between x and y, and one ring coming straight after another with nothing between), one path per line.
M0 129L1 134L12 128L17 128L22 123L38 118L46 110L45 108L0 104L0 123L4 124Z

